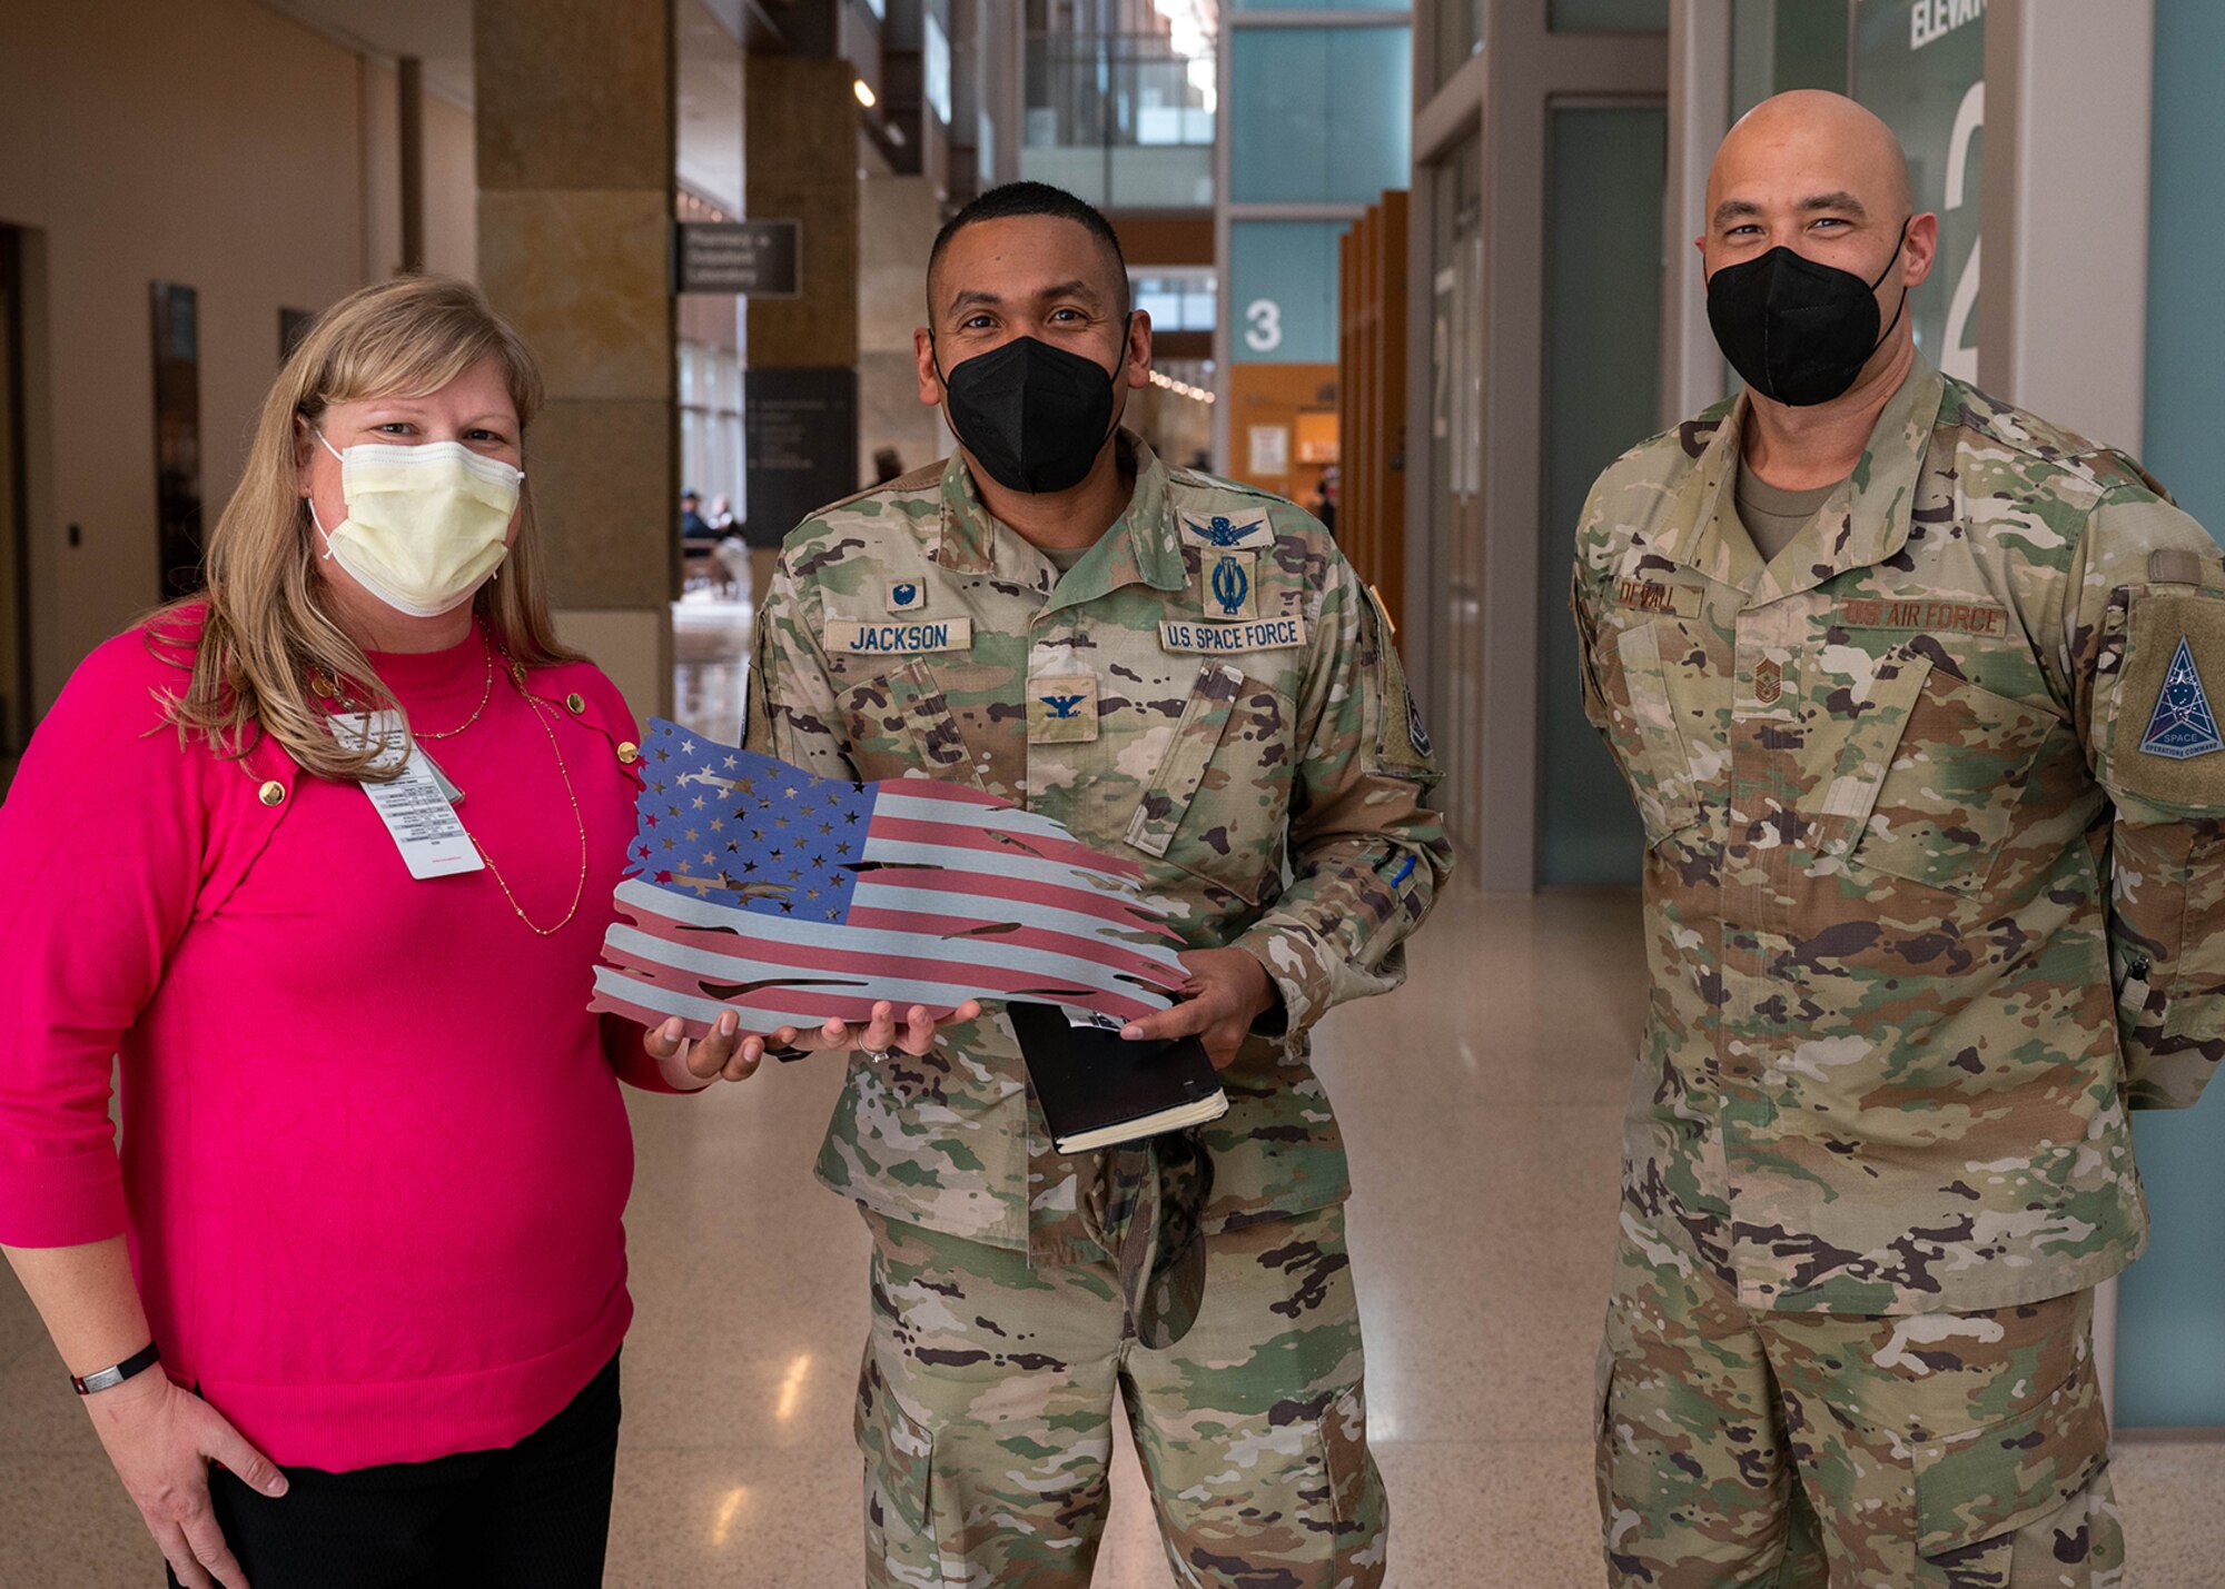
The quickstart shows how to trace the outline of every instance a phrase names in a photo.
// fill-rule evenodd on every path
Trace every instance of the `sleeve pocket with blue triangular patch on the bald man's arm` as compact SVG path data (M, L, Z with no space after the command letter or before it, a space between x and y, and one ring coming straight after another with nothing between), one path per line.
M2134 590L2125 657L2105 703L2107 783L2183 817L2225 815L2225 594Z

